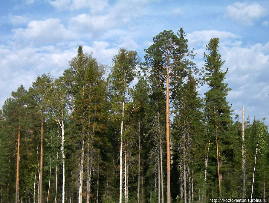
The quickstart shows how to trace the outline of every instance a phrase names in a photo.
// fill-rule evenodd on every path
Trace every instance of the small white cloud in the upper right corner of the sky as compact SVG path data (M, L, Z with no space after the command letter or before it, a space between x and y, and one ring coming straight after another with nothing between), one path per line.
M259 4L236 2L226 8L226 16L240 25L253 25L256 20L268 15L267 10Z

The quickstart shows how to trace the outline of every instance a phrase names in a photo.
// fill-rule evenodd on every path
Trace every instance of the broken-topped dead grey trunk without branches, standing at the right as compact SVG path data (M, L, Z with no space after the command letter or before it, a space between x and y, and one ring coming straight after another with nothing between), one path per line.
M246 197L247 185L246 185L246 156L245 156L245 110L242 107L242 175L243 175L243 198Z

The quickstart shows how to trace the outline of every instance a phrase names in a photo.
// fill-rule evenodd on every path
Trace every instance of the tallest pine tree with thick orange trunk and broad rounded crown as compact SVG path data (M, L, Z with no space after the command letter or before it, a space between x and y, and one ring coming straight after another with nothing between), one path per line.
M163 87L166 93L167 203L171 201L169 94L176 90L175 87L181 84L183 79L187 79L186 67L196 70L195 64L187 59L193 57L193 52L188 52L183 29L177 34L178 36L172 30L160 32L153 37L153 44L145 50L144 57L150 70L150 79L156 80L153 84Z

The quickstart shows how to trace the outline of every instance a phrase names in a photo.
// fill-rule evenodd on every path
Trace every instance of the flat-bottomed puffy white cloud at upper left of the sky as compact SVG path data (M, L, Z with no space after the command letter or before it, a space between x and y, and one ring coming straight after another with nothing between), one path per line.
M76 37L61 24L60 19L34 20L28 23L27 28L13 29L13 32L13 40L31 45L48 45Z

